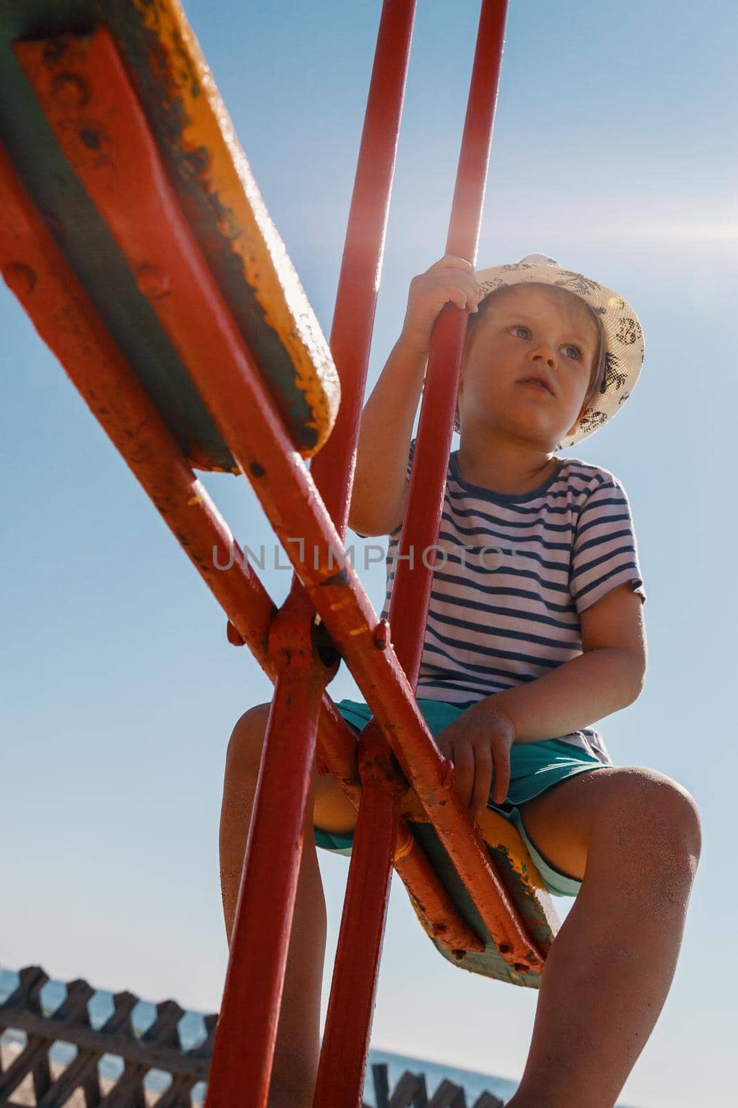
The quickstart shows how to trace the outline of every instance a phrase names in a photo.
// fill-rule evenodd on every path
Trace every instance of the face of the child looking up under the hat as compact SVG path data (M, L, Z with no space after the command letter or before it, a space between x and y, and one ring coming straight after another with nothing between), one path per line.
M507 431L552 450L580 419L599 329L576 304L545 289L512 285L475 325L461 363L464 431ZM540 376L549 388L527 382Z

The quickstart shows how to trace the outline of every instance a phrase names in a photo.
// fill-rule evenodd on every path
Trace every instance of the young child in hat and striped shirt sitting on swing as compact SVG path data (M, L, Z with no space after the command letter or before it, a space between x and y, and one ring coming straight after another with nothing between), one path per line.
M430 332L448 301L470 315L418 705L472 812L489 804L513 821L551 892L576 895L509 1105L612 1108L669 988L700 829L685 789L613 766L592 728L642 689L645 592L622 484L555 451L620 410L641 369L641 327L621 297L541 255L477 274L445 257L413 280L362 414L349 520L391 536L385 616ZM371 716L357 701L337 708L357 730ZM228 748L229 935L268 715L247 711ZM313 773L270 1108L312 1104L325 946L314 841L350 853L355 823L337 783Z

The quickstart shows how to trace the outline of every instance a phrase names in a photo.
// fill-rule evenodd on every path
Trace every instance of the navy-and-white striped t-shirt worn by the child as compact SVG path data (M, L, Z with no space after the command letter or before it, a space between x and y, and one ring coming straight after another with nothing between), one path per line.
M414 448L415 440L408 478ZM456 455L446 475L416 696L466 704L581 654L580 613L611 588L628 582L644 601L646 594L627 495L607 470L560 458L538 489L505 494L466 482ZM385 618L401 530L389 535ZM612 765L592 728L550 738Z

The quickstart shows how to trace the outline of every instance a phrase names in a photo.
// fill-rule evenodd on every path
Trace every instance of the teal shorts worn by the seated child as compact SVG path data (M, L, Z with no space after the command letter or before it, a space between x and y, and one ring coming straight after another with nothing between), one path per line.
M472 704L477 704L477 701L447 704L445 700L418 700L418 708L425 716L432 735L437 735ZM372 718L368 705L358 700L340 700L336 708L349 726L357 733ZM547 862L526 832L519 806L527 800L532 800L533 797L539 797L552 784L558 784L559 781L564 781L568 777L603 768L605 767L599 759L570 742L563 742L561 739L516 742L510 750L510 788L505 803L493 804L491 799L487 801L488 808L499 812L518 829L547 889L554 896L575 896L581 888L581 881L569 874L560 873ZM323 850L333 851L335 854L351 854L353 832L332 834L330 831L315 828L314 834L316 845L322 847Z

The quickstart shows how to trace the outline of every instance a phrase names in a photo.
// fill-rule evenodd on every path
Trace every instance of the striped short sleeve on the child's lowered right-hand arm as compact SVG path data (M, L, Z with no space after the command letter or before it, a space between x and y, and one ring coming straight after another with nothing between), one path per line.
M632 584L645 603L627 493L617 478L607 474L579 514L569 587L581 613L623 584Z

